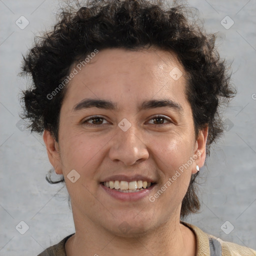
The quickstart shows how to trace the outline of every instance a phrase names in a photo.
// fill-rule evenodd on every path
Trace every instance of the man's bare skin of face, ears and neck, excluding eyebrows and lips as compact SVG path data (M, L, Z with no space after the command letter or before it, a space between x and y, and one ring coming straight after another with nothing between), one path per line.
M177 80L169 75L174 67L183 73ZM101 50L69 82L58 142L49 131L43 133L49 161L64 175L71 198L75 234L65 244L67 256L195 255L195 236L179 218L191 174L205 160L207 128L195 137L185 84L175 54L161 49ZM72 111L84 98L111 100L118 108ZM166 98L182 110L138 110L144 100ZM157 114L166 119L154 119ZM83 123L93 115L104 119ZM123 118L131 123L127 131L118 126ZM153 195L198 151L195 161L154 202L148 196L120 201L100 187L110 175L140 173L156 181ZM72 169L80 174L74 183L67 178ZM127 232L119 228L124 221Z

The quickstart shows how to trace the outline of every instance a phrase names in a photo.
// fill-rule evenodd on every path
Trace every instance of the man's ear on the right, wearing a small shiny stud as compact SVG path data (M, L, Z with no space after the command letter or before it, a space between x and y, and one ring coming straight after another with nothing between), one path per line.
M200 167L203 166L206 158L206 141L208 136L208 126L204 127L199 131L198 137L194 145L194 164L192 167L192 174L196 173L196 165Z

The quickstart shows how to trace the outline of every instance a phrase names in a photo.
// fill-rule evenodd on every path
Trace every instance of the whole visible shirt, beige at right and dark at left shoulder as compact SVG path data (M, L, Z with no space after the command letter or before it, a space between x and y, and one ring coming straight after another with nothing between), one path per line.
M232 242L222 241L213 235L203 232L195 225L180 221L189 227L196 237L195 256L256 256L256 250ZM66 256L65 242L73 234L66 236L59 243L48 247L37 256Z

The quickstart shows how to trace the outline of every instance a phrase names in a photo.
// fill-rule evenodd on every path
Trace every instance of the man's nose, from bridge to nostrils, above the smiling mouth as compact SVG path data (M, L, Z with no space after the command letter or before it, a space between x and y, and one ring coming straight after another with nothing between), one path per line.
M141 132L133 125L123 131L117 127L117 133L111 140L109 158L112 161L122 161L126 166L146 160L149 156L143 142Z

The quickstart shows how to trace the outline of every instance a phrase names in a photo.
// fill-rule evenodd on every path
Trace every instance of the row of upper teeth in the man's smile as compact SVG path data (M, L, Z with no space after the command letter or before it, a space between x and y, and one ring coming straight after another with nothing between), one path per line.
M107 187L110 188L115 188L115 189L121 189L121 190L136 190L139 188L146 188L149 187L151 185L151 182L147 182L147 181L142 181L142 180L138 180L138 181L131 181L131 182L127 182L124 180L110 180L110 181L106 181L103 182L103 184Z

